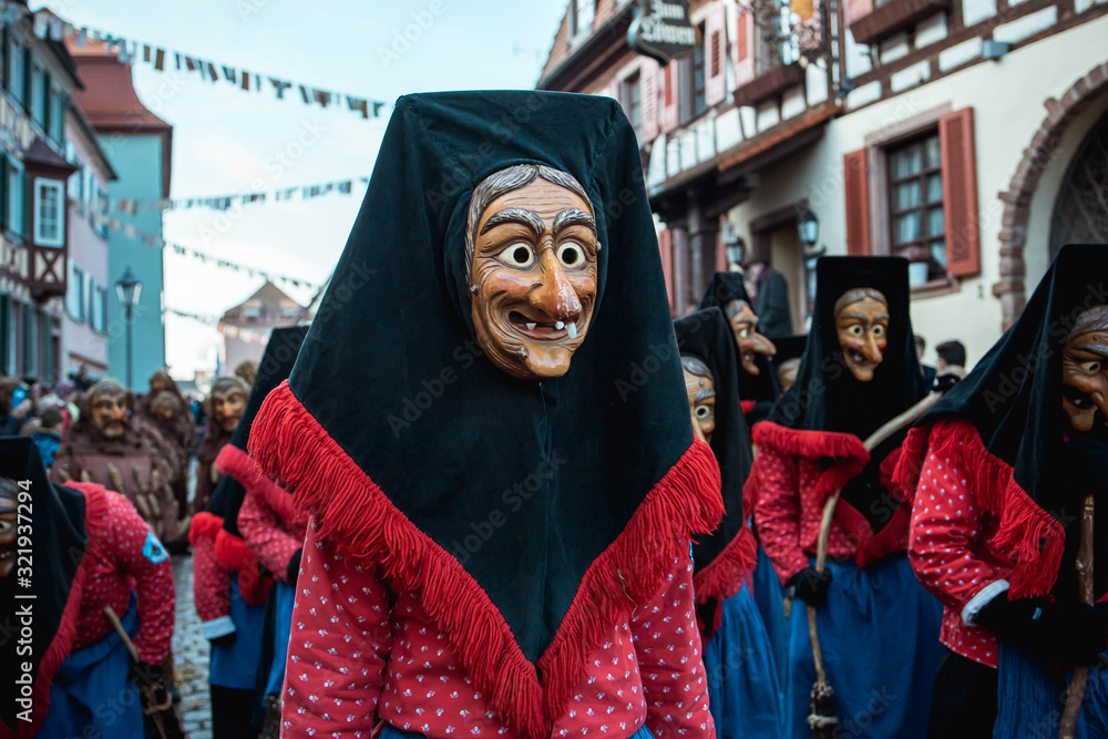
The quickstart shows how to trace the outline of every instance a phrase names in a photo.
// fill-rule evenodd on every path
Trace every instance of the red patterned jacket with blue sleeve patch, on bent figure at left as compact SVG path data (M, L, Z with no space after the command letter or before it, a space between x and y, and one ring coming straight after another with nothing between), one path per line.
M68 484L78 490L92 486ZM81 594L73 649L107 636L113 628L104 616L104 606L111 606L122 618L131 605L131 592L135 591L138 594L135 648L144 663L160 665L173 639L176 592L170 557L127 499L109 490L103 494L106 512L85 520L89 547L84 556L89 561L89 576Z

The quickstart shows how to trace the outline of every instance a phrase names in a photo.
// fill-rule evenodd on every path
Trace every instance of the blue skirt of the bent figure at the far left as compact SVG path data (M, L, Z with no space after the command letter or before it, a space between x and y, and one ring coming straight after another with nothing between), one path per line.
M132 638L138 633L135 601L132 593L131 606L120 619ZM131 655L115 629L70 654L54 675L50 710L35 737L148 737L142 699L127 679L130 674Z

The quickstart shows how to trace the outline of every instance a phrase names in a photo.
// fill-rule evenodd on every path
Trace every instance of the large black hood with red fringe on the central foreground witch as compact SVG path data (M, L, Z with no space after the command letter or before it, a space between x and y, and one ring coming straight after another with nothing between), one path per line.
M522 163L550 165L581 183L602 246L585 340L565 376L542 382L514 379L482 356L466 290L471 193L486 176ZM299 424L310 431L298 431ZM448 637L456 637L471 670L473 660L519 665L523 687L503 699L494 695L493 705L531 711L541 702L527 692L538 689L534 668L512 655L531 663L544 655L578 587L598 582L586 578L599 572L591 565L602 553L608 561L609 545L647 493L666 479L659 487L681 486L681 501L715 505L698 497L714 492L711 485L687 476L683 456L695 459L701 474L707 455L700 447L686 454L691 442L638 144L618 104L550 92L401 97L288 390L271 393L256 422L250 451L263 468L321 514L324 535L346 527L336 543L355 556L418 547L422 560L386 563L410 577L423 576L419 562L451 573L453 561L461 564L464 573L451 574L444 587L475 582L503 619L488 628L501 633L497 624L506 623L517 650L505 646L503 655L474 657L465 638L450 628ZM378 494L387 499L381 510L367 510L367 496L380 501ZM373 525L371 514L396 526ZM674 530L697 516L711 513L686 511L657 525ZM412 525L419 532L390 533ZM420 536L438 548L424 550ZM445 553L453 560L443 561ZM642 556L636 566L645 573L660 567L660 558ZM628 587L638 579L622 574L630 576ZM428 588L422 597L442 606ZM582 606L611 615L626 602L615 598ZM469 603L450 608L470 612L465 619L488 615ZM585 623L583 613L574 610L573 623ZM567 695L562 680L577 676L551 673L543 668L542 689ZM555 679L558 687L551 688ZM496 685L484 687L495 692ZM530 722L538 720L534 712L512 720L525 733L545 730Z

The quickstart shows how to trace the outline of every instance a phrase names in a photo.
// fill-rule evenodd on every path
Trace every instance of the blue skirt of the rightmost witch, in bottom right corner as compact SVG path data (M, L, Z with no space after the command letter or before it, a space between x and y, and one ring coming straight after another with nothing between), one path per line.
M993 736L1057 737L1070 675L1057 676L1022 649L1001 644ZM1089 669L1076 739L1108 737L1108 670Z

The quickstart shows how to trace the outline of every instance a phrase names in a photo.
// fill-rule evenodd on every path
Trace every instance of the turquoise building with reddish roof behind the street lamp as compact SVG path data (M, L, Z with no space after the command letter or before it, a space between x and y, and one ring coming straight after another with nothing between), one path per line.
M103 43L79 45L66 37L66 48L76 60L84 90L75 97L107 154L117 178L107 183L111 202L137 198L146 203L170 196L173 126L157 117L138 100L131 79L131 66ZM124 309L115 297L114 284L130 267L142 283L138 306L134 309L134 382L142 384L156 370L165 368L165 324L162 316L162 249L143 243L125 232L136 228L142 236L162 236L162 212L143 207L137 212L112 212L119 229L107 234L107 363L109 372L126 377Z

